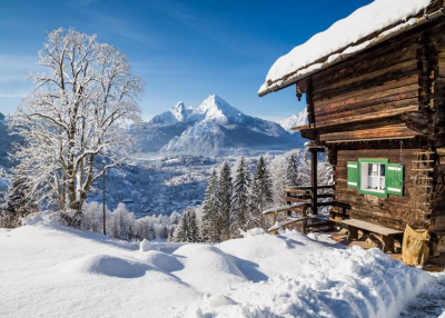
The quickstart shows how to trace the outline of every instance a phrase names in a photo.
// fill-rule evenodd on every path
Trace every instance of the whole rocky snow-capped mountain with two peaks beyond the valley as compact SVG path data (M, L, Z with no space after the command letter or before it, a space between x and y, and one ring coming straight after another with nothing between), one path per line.
M197 108L178 102L155 116L144 125L137 141L142 152L195 156L248 155L303 146L301 138L280 125L245 115L216 95Z

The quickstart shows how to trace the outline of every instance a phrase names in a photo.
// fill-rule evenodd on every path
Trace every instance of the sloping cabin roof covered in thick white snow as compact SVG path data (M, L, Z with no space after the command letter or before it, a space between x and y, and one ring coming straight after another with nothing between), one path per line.
M310 73L337 63L426 22L425 9L436 0L375 0L280 57L267 73L258 95L288 87ZM443 12L443 11L441 11Z

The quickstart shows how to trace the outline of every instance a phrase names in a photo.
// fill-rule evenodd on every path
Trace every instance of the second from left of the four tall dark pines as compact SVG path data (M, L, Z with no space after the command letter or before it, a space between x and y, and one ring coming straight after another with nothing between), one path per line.
M233 195L234 188L231 185L230 167L227 161L224 161L218 187L218 229L220 231L220 240L230 238L230 221L234 206Z

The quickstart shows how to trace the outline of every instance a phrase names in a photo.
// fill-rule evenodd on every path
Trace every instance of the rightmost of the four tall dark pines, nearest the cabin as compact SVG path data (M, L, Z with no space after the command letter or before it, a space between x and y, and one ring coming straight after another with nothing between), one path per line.
M259 157L257 169L254 176L254 187L251 196L251 208L249 223L250 226L261 225L261 212L273 202L273 182L266 162Z

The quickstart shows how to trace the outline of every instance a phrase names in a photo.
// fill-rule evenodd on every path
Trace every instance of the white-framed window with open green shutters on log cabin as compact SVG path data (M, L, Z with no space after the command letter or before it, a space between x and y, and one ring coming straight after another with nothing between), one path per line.
M362 195L403 196L403 166L387 159L358 159L347 162L348 188Z

